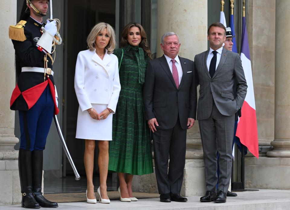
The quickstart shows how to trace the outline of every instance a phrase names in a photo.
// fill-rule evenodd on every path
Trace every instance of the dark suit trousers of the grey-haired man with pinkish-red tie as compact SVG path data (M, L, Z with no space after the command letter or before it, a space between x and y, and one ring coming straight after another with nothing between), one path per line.
M163 130L158 127L156 129L157 131L152 133L152 138L158 192L180 193L185 166L187 130L181 128L179 117L172 129Z

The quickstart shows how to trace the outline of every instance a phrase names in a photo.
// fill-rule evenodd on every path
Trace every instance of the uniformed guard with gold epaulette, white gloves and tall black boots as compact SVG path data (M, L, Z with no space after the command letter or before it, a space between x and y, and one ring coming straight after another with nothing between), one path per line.
M41 193L43 149L53 115L59 112L50 55L57 33L56 21L43 24L48 3L49 0L24 0L20 22L9 27L17 74L10 108L19 111L18 167L24 208L58 207Z

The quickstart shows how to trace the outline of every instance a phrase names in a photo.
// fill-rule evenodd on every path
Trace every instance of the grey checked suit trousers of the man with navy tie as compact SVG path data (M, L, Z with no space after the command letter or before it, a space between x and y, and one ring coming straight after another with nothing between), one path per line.
M235 115L222 115L213 104L211 116L208 119L199 120L198 125L205 163L206 190L216 192L218 183L218 191L223 190L227 193L232 169ZM217 158L217 153L219 158ZM217 161L220 169L219 178Z

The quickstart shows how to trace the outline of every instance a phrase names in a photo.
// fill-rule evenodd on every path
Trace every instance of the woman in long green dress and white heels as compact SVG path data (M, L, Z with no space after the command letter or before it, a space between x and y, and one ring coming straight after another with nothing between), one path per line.
M121 201L137 201L132 195L134 175L153 173L150 130L144 117L142 87L151 52L138 23L122 31L119 60L121 92L113 116L113 141L109 145L109 170L118 172Z

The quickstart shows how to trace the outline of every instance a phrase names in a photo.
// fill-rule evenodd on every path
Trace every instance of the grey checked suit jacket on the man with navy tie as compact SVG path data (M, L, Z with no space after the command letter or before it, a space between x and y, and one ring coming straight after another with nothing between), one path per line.
M222 115L235 114L243 105L247 94L247 82L240 55L223 48L221 60L213 78L209 75L206 59L209 49L195 56L194 64L197 85L200 85L197 119L208 119L213 100ZM233 91L236 80L236 94ZM235 96L235 97L234 97Z

